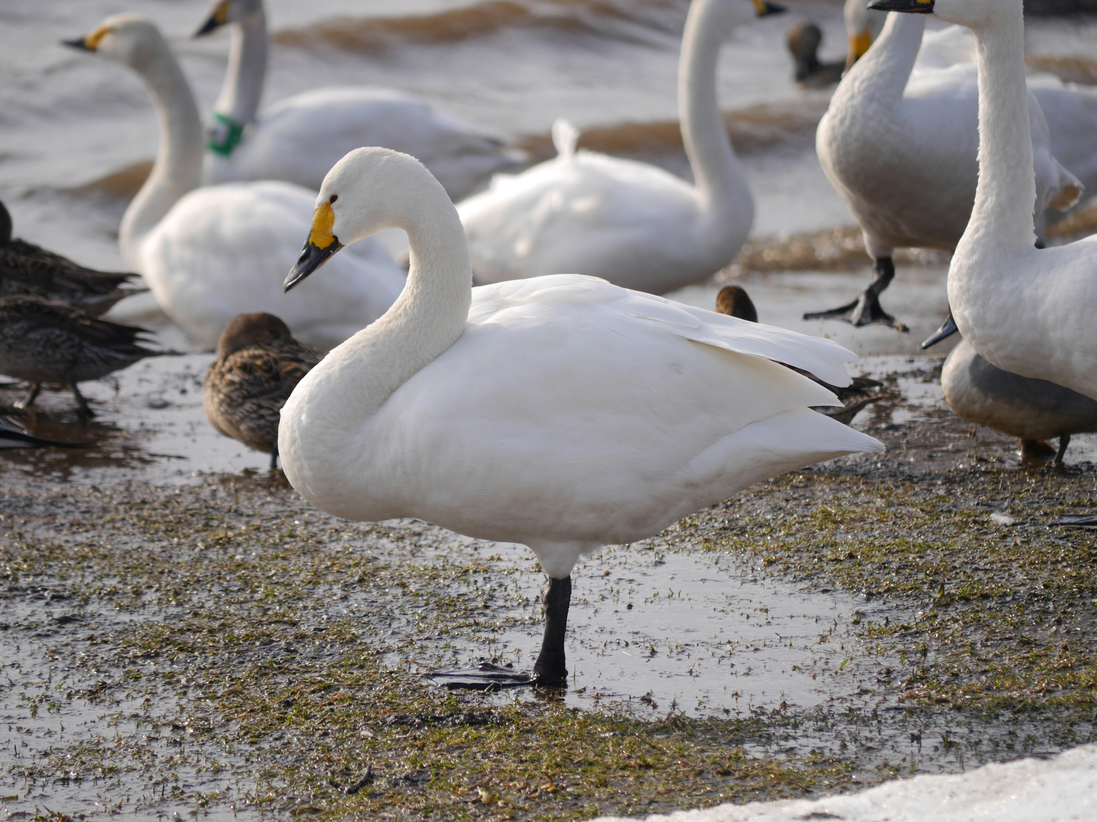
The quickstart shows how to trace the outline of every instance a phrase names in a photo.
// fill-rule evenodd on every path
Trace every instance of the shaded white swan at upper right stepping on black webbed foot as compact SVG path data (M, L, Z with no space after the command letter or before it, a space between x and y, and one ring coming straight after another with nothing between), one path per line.
M925 20L893 14L880 38L847 72L815 134L827 179L857 219L875 261L872 283L853 301L804 319L906 327L883 310L897 247L955 248L975 199L979 89L975 67L912 73ZM1036 214L1068 208L1081 183L1052 157L1048 124L1029 98L1037 151Z

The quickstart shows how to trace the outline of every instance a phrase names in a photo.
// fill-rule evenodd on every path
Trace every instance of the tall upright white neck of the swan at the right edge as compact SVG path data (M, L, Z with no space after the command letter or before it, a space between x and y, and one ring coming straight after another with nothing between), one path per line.
M1036 171L1025 80L1025 21L1018 11L994 26L972 31L979 69L979 185L960 246L981 238L983 248L1031 249Z

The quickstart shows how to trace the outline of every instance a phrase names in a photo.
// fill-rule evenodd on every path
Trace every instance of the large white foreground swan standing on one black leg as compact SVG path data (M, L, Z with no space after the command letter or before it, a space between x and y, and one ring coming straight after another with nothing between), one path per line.
M349 153L316 202L287 289L384 228L407 231L411 269L388 312L283 407L286 477L336 516L414 516L528 545L550 576L540 682L567 675L580 555L657 534L764 478L883 450L811 411L838 400L777 364L849 385L852 355L829 340L576 274L471 288L445 192L387 149Z

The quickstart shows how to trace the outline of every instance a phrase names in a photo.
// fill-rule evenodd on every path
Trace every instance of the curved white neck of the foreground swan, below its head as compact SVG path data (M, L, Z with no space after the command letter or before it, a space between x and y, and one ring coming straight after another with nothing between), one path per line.
M353 453L348 443L372 414L464 333L472 305L468 246L445 190L429 182L434 191L425 202L383 226L404 229L410 242L411 267L399 298L309 372L282 410L279 449L293 487L306 498L355 499L359 490L346 486L353 472L335 476L331 455Z

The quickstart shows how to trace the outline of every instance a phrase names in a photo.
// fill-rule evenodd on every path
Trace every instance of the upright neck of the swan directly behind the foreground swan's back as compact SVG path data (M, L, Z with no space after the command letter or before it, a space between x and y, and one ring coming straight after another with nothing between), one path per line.
M713 21L717 5L717 0L690 5L678 65L678 114L702 210L720 219L750 199L716 95L716 60L727 34Z

